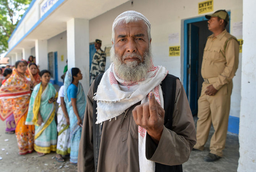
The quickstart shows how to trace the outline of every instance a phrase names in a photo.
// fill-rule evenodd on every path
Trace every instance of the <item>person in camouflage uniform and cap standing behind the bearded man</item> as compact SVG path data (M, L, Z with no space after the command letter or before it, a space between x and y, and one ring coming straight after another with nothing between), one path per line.
M98 76L100 73L105 72L105 65L106 65L106 53L100 49L101 47L101 40L95 40L95 48L96 53L93 55L92 58L92 65L90 70L90 85L92 81Z

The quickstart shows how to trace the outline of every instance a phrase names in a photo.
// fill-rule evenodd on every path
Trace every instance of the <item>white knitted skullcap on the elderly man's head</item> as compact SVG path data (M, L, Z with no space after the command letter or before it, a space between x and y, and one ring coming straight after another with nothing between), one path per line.
M122 14L120 14L119 16L117 16L117 18L115 18L115 20L113 22L112 29L114 29L113 27L117 24L118 21L120 21L126 17L130 17L130 16L133 16L133 17L143 20L149 26L149 29L151 29L151 25L150 25L150 22L148 21L148 19L145 16L143 16L141 13L138 13L137 11L125 11Z

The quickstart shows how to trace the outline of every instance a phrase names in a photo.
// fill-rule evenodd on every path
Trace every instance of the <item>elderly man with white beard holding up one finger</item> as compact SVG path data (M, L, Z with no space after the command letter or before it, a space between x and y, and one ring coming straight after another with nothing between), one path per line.
M188 161L190 106L180 80L153 65L150 29L136 11L113 22L112 64L87 95L79 172L181 172Z

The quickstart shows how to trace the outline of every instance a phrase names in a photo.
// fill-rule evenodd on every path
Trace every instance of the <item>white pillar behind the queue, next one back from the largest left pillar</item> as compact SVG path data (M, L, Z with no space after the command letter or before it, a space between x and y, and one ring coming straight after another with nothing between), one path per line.
M48 69L47 40L36 40L35 51L36 64L39 65L39 70Z

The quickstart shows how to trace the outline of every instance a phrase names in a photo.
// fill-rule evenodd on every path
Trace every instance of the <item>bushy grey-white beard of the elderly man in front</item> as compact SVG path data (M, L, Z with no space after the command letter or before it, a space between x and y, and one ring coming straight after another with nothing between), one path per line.
M139 63L137 61L131 61L122 63L126 57L137 57L143 62ZM149 49L145 51L144 58L136 53L126 54L125 56L119 56L115 53L114 46L110 49L110 61L113 62L115 67L115 72L117 73L118 77L131 82L137 82L146 77L147 71L151 69L151 45L149 45Z

